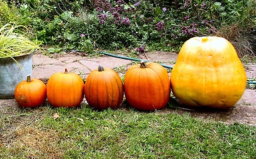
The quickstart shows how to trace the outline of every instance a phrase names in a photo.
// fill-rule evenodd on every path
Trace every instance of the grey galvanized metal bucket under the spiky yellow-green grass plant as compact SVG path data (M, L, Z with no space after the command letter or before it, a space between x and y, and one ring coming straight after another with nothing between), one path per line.
M27 79L27 75L32 76L32 56L13 56L20 66L12 58L0 58L0 99L13 98L16 86Z

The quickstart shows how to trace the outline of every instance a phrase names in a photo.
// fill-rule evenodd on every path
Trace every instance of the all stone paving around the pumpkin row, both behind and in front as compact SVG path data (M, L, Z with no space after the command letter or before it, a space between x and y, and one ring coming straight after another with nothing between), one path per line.
M171 52L148 52L140 54L138 58L146 61L160 62L173 67L178 54ZM34 54L32 78L39 78L47 83L51 75L56 72L64 72L67 68L69 72L79 74L86 79L88 74L98 65L114 68L120 76L124 76L126 70L134 64L132 60L115 58L112 56L98 55L98 57L88 57L79 52L66 52L64 54ZM256 64L244 64L247 78L256 78ZM170 72L170 68L166 68ZM3 107L18 107L15 99L0 99L0 109ZM128 109L125 103L118 109ZM209 108L191 108L181 105L176 100L171 99L170 104L158 112L162 113L190 113L192 117L201 119L214 119L224 123L243 123L246 125L256 125L256 85L248 85L241 99L229 109L209 109Z

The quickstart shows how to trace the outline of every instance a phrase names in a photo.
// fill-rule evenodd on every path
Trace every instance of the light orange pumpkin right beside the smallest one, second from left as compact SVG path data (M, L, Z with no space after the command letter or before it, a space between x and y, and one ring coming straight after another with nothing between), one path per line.
M84 81L78 74L53 74L47 83L47 99L53 107L76 107L84 98Z

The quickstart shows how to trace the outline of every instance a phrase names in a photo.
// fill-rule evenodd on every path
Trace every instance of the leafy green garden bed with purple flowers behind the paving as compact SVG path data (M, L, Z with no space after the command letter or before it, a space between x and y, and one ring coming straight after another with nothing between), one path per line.
M17 23L29 26L44 44L89 52L178 50L193 36L221 34L233 24L243 34L255 34L253 0L20 0L11 5L21 14Z

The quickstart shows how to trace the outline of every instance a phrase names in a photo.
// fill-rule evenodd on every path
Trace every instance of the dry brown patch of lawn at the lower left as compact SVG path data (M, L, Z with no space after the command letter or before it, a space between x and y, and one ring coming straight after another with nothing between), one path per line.
M52 130L40 130L35 127L16 129L13 138L6 145L12 154L23 153L25 158L63 158L57 133Z

